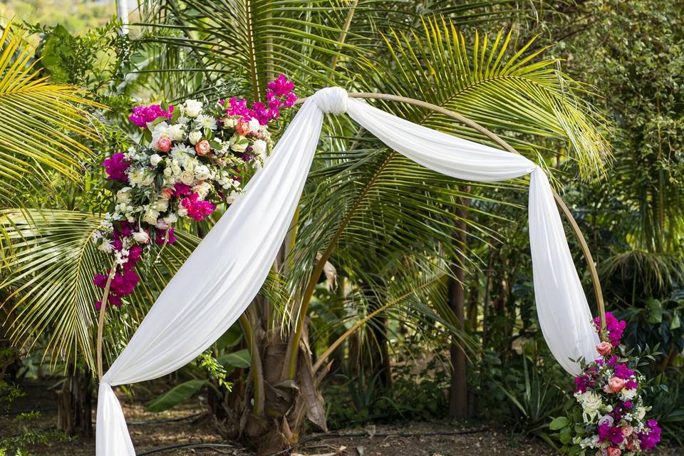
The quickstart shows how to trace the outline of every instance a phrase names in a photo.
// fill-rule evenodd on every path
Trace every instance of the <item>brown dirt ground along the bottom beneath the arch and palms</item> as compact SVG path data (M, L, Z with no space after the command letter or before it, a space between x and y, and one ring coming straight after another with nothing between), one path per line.
M49 430L56 422L53 392L38 385L26 388L28 395L19 398L9 415L0 416L0 438L17 435L22 426L31 430ZM212 421L202 413L197 401L179 406L165 413L148 413L144 400L133 403L120 396L133 444L142 455L232 455L252 456L243 445L224 442L215 432ZM40 410L38 419L30 423L17 423L16 413L23 410ZM93 410L93 419L95 412ZM408 434L408 435L407 435ZM215 447L206 444L220 445ZM162 447L178 447L160 450ZM26 445L36 456L91 456L95 454L93 438ZM311 434L304 437L291 453L277 456L490 456L490 455L557 455L539 440L514 435L506 430L472 425L463 427L453 423L400 423L369 425L331 434ZM661 448L653 456L684 455L681 449ZM274 455L275 456L275 455Z

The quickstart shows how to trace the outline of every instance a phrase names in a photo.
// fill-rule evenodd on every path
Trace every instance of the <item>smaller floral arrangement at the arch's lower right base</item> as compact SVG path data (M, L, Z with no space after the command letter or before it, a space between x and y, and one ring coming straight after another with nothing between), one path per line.
M577 403L566 417L551 422L551 430L559 431L561 450L569 455L641 455L660 441L661 430L646 419L651 408L643 403L645 378L637 370L638 358L617 354L626 323L606 312L606 331L598 318L594 324L604 334L596 346L599 357L581 363L582 373L574 379Z

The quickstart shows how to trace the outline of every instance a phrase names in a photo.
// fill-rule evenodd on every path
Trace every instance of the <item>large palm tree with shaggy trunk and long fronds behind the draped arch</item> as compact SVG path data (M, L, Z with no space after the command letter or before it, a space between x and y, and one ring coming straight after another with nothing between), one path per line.
M421 19L413 5L403 1L159 1L142 11L145 20L138 24L146 56L139 69L148 76L141 83L167 98L228 89L261 98L265 81L283 72L304 95L327 85L408 95L472 117L541 165L546 157L555 157L555 147L562 144L569 151L564 159L579 163L585 174L595 172L606 153L598 120L591 107L576 98L576 84L558 71L558 62L544 58L543 49L529 51L532 42L512 49L512 32L475 32L468 40L457 32L457 26L510 16L500 3L445 9L441 12L451 17L440 20ZM421 125L485 140L442 115L410 105L382 107ZM463 259L456 269L470 264L460 242L463 227L471 237L482 239L497 233L481 222L494 214L481 214L480 222L455 214L462 199L505 199L501 190L520 187L480 185L465 192L462 182L388 150L351 120L331 119L326 132L293 229L274 264L282 292L260 296L240 319L251 358L251 383L240 401L242 409L224 413L224 425L259 442L264 452L294 442L306 418L326 428L319 385L332 351L314 361L308 335L311 300L326 264L351 289L342 299L357 309L354 330L397 315L416 324L432 320L450 331L456 346L470 351L469 338L446 305L445 283L454 270L447 259ZM25 318L24 334L35 336L31 328L48 314L54 322L63 322L55 330L91 324L93 309L81 303L92 297L86 294L93 289L86 281L101 266L74 275L76 263L86 269L98 263L88 247L76 252L76 246L85 245L87 229L42 233L16 221L24 228L14 229L13 242L21 251L31 247L41 259L31 261L31 255L24 255L24 269L7 279L17 287L13 301L21 300L24 315L35 316ZM83 221L94 224L95 217ZM61 239L72 239L71 248L51 252ZM161 267L142 273L150 283L133 296L130 310L112 316L111 350L123 343L197 238L186 235L186 241L161 260ZM71 266L57 269L72 281L51 281L55 259L68 255ZM387 261L387 266L373 267L369 258ZM41 274L41 288L34 288L36 282L29 278ZM68 292L75 283L78 298ZM45 304L51 295L61 297L60 305ZM77 316L83 324L67 323ZM349 322L349 315L340 320ZM90 363L92 339L77 332L55 332L48 344L53 349L69 347L68 356L78 354ZM342 333L331 347L341 346L353 332Z

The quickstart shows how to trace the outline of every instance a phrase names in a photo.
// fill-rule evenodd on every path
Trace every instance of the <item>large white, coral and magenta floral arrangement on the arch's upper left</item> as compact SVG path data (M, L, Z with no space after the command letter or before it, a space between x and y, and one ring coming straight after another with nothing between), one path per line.
M175 224L204 220L218 204L231 204L247 172L264 164L273 147L269 123L297 99L284 75L268 89L266 103L251 108L234 97L133 108L128 119L142 130L142 144L103 161L113 202L93 233L98 249L114 257L113 269L93 279L104 289L111 276L109 304L120 306L133 293L140 280L135 265L175 242Z

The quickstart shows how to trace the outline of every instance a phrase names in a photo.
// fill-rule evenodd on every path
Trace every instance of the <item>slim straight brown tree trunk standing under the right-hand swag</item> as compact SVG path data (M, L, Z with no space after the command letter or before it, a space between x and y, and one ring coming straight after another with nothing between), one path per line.
M470 190L470 187L465 187L465 191ZM457 216L460 217L460 222L457 224L457 239L459 243L458 253L452 259L451 269L452 277L449 280L449 306L454 312L457 320L458 328L463 331L465 329L465 252L467 249L467 225L465 219L468 216L467 199L461 198L460 204L462 208L457 209ZM451 384L449 388L449 416L451 418L462 419L467 418L468 415L468 385L466 376L466 361L465 352L460 344L452 338L451 348Z

